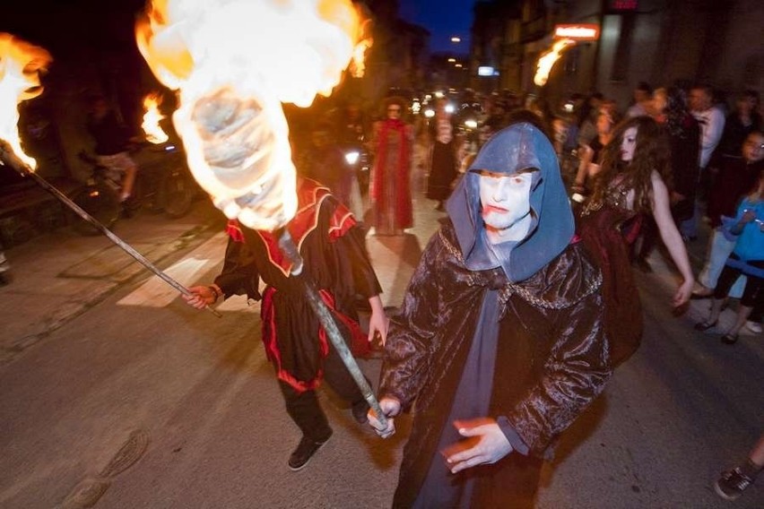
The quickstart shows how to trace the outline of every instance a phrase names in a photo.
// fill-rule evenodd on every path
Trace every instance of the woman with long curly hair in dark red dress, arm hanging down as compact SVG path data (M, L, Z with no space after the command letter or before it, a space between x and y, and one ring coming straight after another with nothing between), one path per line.
M649 116L629 118L616 127L603 148L602 168L579 218L578 235L603 271L605 335L613 365L629 358L642 335L639 295L629 265L629 242L642 213L655 218L661 238L682 274L673 306L690 299L695 279L670 200L671 152L668 138ZM624 226L627 228L624 229Z

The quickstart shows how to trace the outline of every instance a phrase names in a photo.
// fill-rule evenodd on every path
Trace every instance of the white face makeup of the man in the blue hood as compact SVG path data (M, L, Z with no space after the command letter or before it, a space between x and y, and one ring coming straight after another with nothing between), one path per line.
M534 168L508 175L487 170L480 175L482 220L491 244L522 240L530 229Z

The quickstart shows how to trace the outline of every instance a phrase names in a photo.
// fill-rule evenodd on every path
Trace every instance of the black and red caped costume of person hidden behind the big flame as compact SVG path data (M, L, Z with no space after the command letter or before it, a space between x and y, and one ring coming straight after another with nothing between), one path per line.
M364 231L329 190L307 178L298 180L298 212L287 226L303 258L300 276L282 255L270 232L230 225L221 275L215 279L226 297L263 298L263 342L280 380L297 391L321 382L330 341L304 291L315 284L356 355L369 350L358 323L356 302L382 292L366 251ZM261 295L259 280L265 282Z

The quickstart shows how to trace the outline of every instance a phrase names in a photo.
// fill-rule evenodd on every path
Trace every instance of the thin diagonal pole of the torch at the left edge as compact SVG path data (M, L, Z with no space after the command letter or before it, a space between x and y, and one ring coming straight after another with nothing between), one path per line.
M59 191L55 186L50 185L47 180L45 180L43 177L40 177L38 174L36 174L34 171L32 171L27 165L25 165L21 160L19 160L15 154L13 154L13 151L11 151L10 146L7 142L0 140L0 161L10 167L13 168L16 172L21 174L23 177L31 177L35 182L37 182L43 189L48 191L48 193L53 194L60 200L62 203L67 205L70 209L75 211L78 216L80 216L83 220L88 221L91 223L93 227L96 229L99 229L101 233L103 233L106 237L109 237L109 240L111 240L114 244L121 247L128 255L133 256L135 260L137 260L139 263L143 264L144 267L155 273L157 276L159 276L162 280L164 280L169 286L171 286L174 289L177 289L180 293L183 295L187 295L188 297L192 297L194 294L191 293L191 290L187 289L185 286L180 284L177 280L172 279L169 277L169 275L166 272L162 272L159 267L151 263L145 256L141 255L137 251L135 251L135 248L133 246L130 246L127 244L124 240L117 237L112 233L112 231L108 228L106 228L103 223L101 223L99 220L92 217L88 212L83 211L82 207L77 205L77 203L74 203L72 200L69 199L68 196L66 196L64 193ZM207 309L209 309L213 315L220 318L222 315L215 311L212 307L206 306Z

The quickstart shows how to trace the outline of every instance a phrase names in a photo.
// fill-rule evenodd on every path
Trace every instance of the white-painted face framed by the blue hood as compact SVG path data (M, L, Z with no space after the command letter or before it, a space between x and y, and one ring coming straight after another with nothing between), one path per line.
M489 229L507 230L531 211L533 172L512 175L480 172L482 220Z

